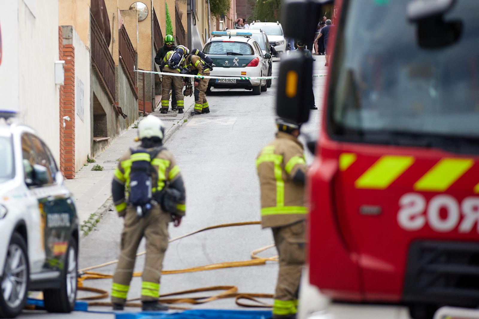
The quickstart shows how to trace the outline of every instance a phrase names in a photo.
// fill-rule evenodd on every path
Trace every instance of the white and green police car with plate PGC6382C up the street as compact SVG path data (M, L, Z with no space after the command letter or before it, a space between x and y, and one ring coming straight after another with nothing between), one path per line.
M266 79L231 79L227 77L266 77L269 75L269 53L263 52L259 44L247 31L214 31L208 39L203 53L215 64L211 76L225 77L210 79L208 87L252 89L254 95L267 90Z

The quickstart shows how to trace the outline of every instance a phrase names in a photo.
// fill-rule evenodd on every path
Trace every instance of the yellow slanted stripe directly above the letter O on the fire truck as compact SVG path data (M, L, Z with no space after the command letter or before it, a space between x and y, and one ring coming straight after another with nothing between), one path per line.
M443 158L414 184L414 190L444 192L472 165L474 165L472 159Z

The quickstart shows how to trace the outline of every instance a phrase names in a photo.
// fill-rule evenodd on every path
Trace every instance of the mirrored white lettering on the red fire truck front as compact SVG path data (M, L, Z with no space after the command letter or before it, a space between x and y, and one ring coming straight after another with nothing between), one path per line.
M399 199L399 226L406 231L419 231L426 223L438 232L458 227L468 233L476 226L479 233L479 197L467 197L460 203L451 195L436 195L429 203L418 193L407 193Z

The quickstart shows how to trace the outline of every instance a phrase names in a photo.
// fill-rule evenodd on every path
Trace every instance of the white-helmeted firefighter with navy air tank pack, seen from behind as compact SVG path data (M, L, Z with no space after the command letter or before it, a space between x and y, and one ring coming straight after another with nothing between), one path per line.
M138 125L140 146L126 152L114 171L113 200L118 215L124 218L111 294L115 310L122 310L125 305L143 237L146 259L141 284L142 309L168 309L158 303L160 274L168 247L168 223L180 225L185 215L186 193L173 155L162 146L163 134L161 120L148 115Z

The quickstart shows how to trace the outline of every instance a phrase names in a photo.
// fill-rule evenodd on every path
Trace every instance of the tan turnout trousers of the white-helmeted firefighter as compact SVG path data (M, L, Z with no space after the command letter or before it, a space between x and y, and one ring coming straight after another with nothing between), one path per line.
M135 209L128 207L121 233L120 256L113 275L112 302L125 304L135 267L138 245L146 238L146 259L141 283L141 301L156 301L160 295L160 275L163 257L168 247L168 222L171 215L159 206L145 217L138 218Z

